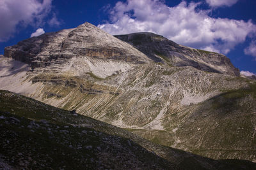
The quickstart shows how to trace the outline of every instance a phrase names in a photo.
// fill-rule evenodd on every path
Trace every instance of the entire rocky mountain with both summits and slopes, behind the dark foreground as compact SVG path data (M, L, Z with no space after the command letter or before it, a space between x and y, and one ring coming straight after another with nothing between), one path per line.
M256 81L224 55L85 23L6 47L0 70L0 89L161 145L256 161Z

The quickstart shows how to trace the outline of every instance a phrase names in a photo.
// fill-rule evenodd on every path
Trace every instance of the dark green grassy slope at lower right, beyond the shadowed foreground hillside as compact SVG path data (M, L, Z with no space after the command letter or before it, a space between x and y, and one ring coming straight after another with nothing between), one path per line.
M256 160L255 103L256 83L249 83L244 89L223 89L223 94L173 115L173 122L181 122L175 132L128 130L205 157Z

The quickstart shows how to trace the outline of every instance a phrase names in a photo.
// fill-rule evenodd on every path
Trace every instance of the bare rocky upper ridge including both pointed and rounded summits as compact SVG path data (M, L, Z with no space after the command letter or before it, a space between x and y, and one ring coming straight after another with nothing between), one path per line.
M192 66L202 71L239 76L239 70L220 53L178 45L151 32L114 37L88 22L74 29L49 32L20 41L17 45L6 47L4 56L31 64L32 69L63 66L72 59L85 57L115 60L123 64L143 64L154 60L172 66Z

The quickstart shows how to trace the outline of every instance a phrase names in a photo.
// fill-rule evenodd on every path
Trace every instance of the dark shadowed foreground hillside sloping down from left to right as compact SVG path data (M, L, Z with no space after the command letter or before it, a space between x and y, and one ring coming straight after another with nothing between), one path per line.
M0 90L1 169L255 169L150 143L74 111ZM152 152L154 151L154 152Z

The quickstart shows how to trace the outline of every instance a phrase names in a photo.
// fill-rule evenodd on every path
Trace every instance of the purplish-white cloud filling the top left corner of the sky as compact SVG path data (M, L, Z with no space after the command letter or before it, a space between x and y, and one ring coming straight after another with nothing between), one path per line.
M1 0L0 42L7 41L16 31L18 24L38 27L50 13L52 0Z

